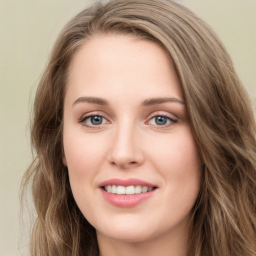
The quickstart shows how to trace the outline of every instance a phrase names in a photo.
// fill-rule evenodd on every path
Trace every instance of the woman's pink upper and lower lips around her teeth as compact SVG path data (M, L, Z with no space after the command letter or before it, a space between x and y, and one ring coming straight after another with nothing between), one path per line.
M122 185L122 186L129 186L129 185L141 185L141 186L152 186L156 187L156 185L148 183L143 180L139 179L118 179L118 178L113 178L109 179L106 181L103 181L99 184L99 188L101 190L102 196L104 199L111 203L114 206L117 207L132 207L135 206L145 199L151 197L158 189L153 189L149 192L145 193L138 193L138 194L114 194L114 193L108 193L105 191L102 187L106 185Z

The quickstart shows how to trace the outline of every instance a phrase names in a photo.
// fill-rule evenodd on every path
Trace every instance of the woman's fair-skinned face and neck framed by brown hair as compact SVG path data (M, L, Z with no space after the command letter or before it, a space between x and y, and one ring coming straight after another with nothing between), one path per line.
M128 35L85 42L70 64L63 146L74 199L96 229L100 256L187 254L200 159L161 47ZM111 179L153 188L118 195L105 191Z

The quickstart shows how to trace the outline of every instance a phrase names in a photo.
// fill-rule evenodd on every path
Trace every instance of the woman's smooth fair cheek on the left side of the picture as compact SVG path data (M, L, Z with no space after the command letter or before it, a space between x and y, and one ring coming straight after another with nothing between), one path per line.
M107 141L99 134L65 128L63 147L69 182L77 204L83 205L83 201L89 203L89 194L97 187L97 176L106 159Z

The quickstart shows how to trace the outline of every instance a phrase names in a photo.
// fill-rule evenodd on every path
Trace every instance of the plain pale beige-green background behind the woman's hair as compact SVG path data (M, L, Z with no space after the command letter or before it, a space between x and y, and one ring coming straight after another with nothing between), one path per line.
M57 33L88 1L0 0L0 256L20 255L19 250L27 255L25 236L18 245L18 190L31 160L29 95L33 97ZM218 33L254 101L256 1L179 1Z

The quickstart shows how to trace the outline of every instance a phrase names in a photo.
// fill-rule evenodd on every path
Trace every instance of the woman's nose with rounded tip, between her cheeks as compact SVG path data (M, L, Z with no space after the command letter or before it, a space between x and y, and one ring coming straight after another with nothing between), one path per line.
M108 161L121 169L136 167L144 162L141 136L135 127L122 125L116 128L111 141Z

